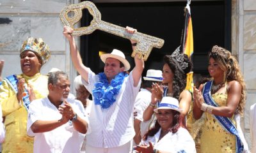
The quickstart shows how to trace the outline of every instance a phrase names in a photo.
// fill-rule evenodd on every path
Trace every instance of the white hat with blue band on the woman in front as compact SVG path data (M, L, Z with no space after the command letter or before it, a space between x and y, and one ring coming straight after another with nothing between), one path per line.
M172 97L163 97L161 103L158 108L154 109L154 112L158 112L158 110L162 109L170 109L176 110L177 112L182 112L182 109L179 108L179 101L176 98Z

